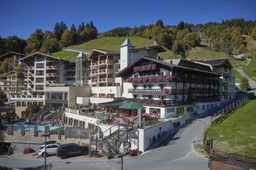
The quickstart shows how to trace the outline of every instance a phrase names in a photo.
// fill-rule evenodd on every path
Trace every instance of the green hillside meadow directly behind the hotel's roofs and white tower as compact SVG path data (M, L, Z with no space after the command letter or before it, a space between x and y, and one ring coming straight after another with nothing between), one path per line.
M124 42L125 39L126 37L124 36L103 36L101 38L93 39L89 42L84 42L83 44L73 45L70 47L87 51L91 51L94 48L99 48L102 50L110 50L116 53L120 53L120 45ZM135 45L135 47L146 47L154 45L154 40L146 39L140 36L129 36L129 40L132 42L133 45ZM70 58L74 58L76 55L78 55L78 53L64 50L53 53L53 56L59 56L60 58L67 58L67 56L69 56ZM165 53L159 53L159 56L165 59L170 59L176 58L177 55L172 51L167 50L167 52Z

